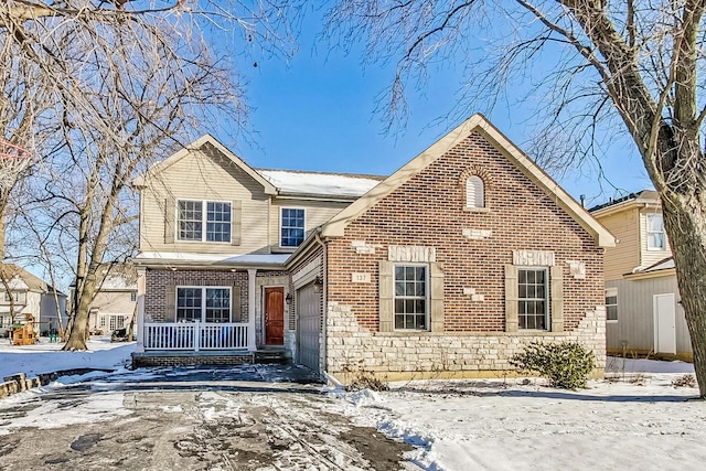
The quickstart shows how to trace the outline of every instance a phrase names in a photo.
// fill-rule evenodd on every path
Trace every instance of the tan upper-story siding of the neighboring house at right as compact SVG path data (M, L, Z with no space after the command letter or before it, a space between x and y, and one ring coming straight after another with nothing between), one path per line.
M640 265L638 210L632 206L603 217L598 215L597 218L616 236L616 246L607 247L603 256L606 280L621 279Z

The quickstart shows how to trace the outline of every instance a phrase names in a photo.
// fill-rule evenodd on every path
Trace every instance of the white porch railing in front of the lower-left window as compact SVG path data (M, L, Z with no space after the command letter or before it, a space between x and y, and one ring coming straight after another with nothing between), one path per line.
M255 350L248 323L150 322L142 330L145 350Z

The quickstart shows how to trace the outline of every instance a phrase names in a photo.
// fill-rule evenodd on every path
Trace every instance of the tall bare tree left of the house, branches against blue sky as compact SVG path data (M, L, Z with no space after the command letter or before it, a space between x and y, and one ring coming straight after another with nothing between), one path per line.
M42 165L28 185L35 203L24 214L40 237L62 246L64 259L75 257L65 350L86 349L98 268L137 246L130 180L212 126L213 116L242 124L233 50L286 47L282 10L258 1L0 2L0 60L14 57L19 84L35 74L31 83L49 104L28 125L43 139L34 147ZM225 46L213 45L216 39ZM17 118L0 122L19 129Z

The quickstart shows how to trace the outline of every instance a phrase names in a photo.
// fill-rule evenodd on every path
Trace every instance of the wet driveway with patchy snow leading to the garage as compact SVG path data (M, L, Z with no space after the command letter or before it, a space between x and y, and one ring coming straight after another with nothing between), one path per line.
M304 368L138 370L0 400L0 469L399 470Z

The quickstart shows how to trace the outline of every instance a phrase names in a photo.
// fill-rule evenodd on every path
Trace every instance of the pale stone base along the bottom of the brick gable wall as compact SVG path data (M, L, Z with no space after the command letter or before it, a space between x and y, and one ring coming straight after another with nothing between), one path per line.
M329 302L328 373L343 383L360 370L389 381L432 377L500 377L532 341L581 342L596 355L595 376L606 368L606 308L600 306L571 332L386 333L361 327L350 306Z

